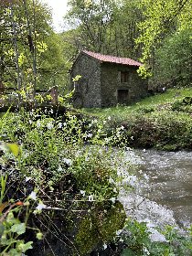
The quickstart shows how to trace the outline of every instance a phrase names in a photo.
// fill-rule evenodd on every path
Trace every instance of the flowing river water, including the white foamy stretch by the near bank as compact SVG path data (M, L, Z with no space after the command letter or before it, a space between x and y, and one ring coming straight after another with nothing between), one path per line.
M147 180L134 195L120 198L128 214L158 225L192 223L192 152L133 150L127 158Z

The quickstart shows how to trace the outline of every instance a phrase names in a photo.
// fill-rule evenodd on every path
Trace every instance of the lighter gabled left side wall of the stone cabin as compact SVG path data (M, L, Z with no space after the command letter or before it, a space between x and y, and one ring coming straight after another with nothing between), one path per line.
M74 107L101 107L101 69L100 61L86 54L80 54L70 72L72 78L80 75L79 81L75 82L73 97Z

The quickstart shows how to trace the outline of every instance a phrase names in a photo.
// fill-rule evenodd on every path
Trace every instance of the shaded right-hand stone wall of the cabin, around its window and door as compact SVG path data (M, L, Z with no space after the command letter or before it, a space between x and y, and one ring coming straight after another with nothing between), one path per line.
M108 107L118 103L118 91L127 91L125 104L131 104L147 95L147 80L141 79L137 68L125 65L101 64L101 106ZM121 72L128 73L128 80L121 82Z

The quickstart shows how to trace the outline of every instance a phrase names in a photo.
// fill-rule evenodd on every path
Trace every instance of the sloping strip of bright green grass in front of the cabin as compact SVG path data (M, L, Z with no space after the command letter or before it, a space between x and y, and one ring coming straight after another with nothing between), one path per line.
M141 101L133 103L130 106L116 106L111 108L95 108L83 109L82 112L92 114L98 117L107 117L113 115L129 115L133 111L138 111L141 108L156 108L159 105L164 105L169 102L174 102L183 97L192 96L192 88L169 89L164 93L157 93L154 96L149 96Z

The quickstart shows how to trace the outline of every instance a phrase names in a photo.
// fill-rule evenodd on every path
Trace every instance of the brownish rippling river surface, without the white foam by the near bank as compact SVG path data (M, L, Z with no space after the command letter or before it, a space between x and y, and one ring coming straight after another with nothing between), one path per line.
M138 174L149 178L150 189L143 189L142 196L172 209L180 223L192 222L192 152L134 150L130 155Z

